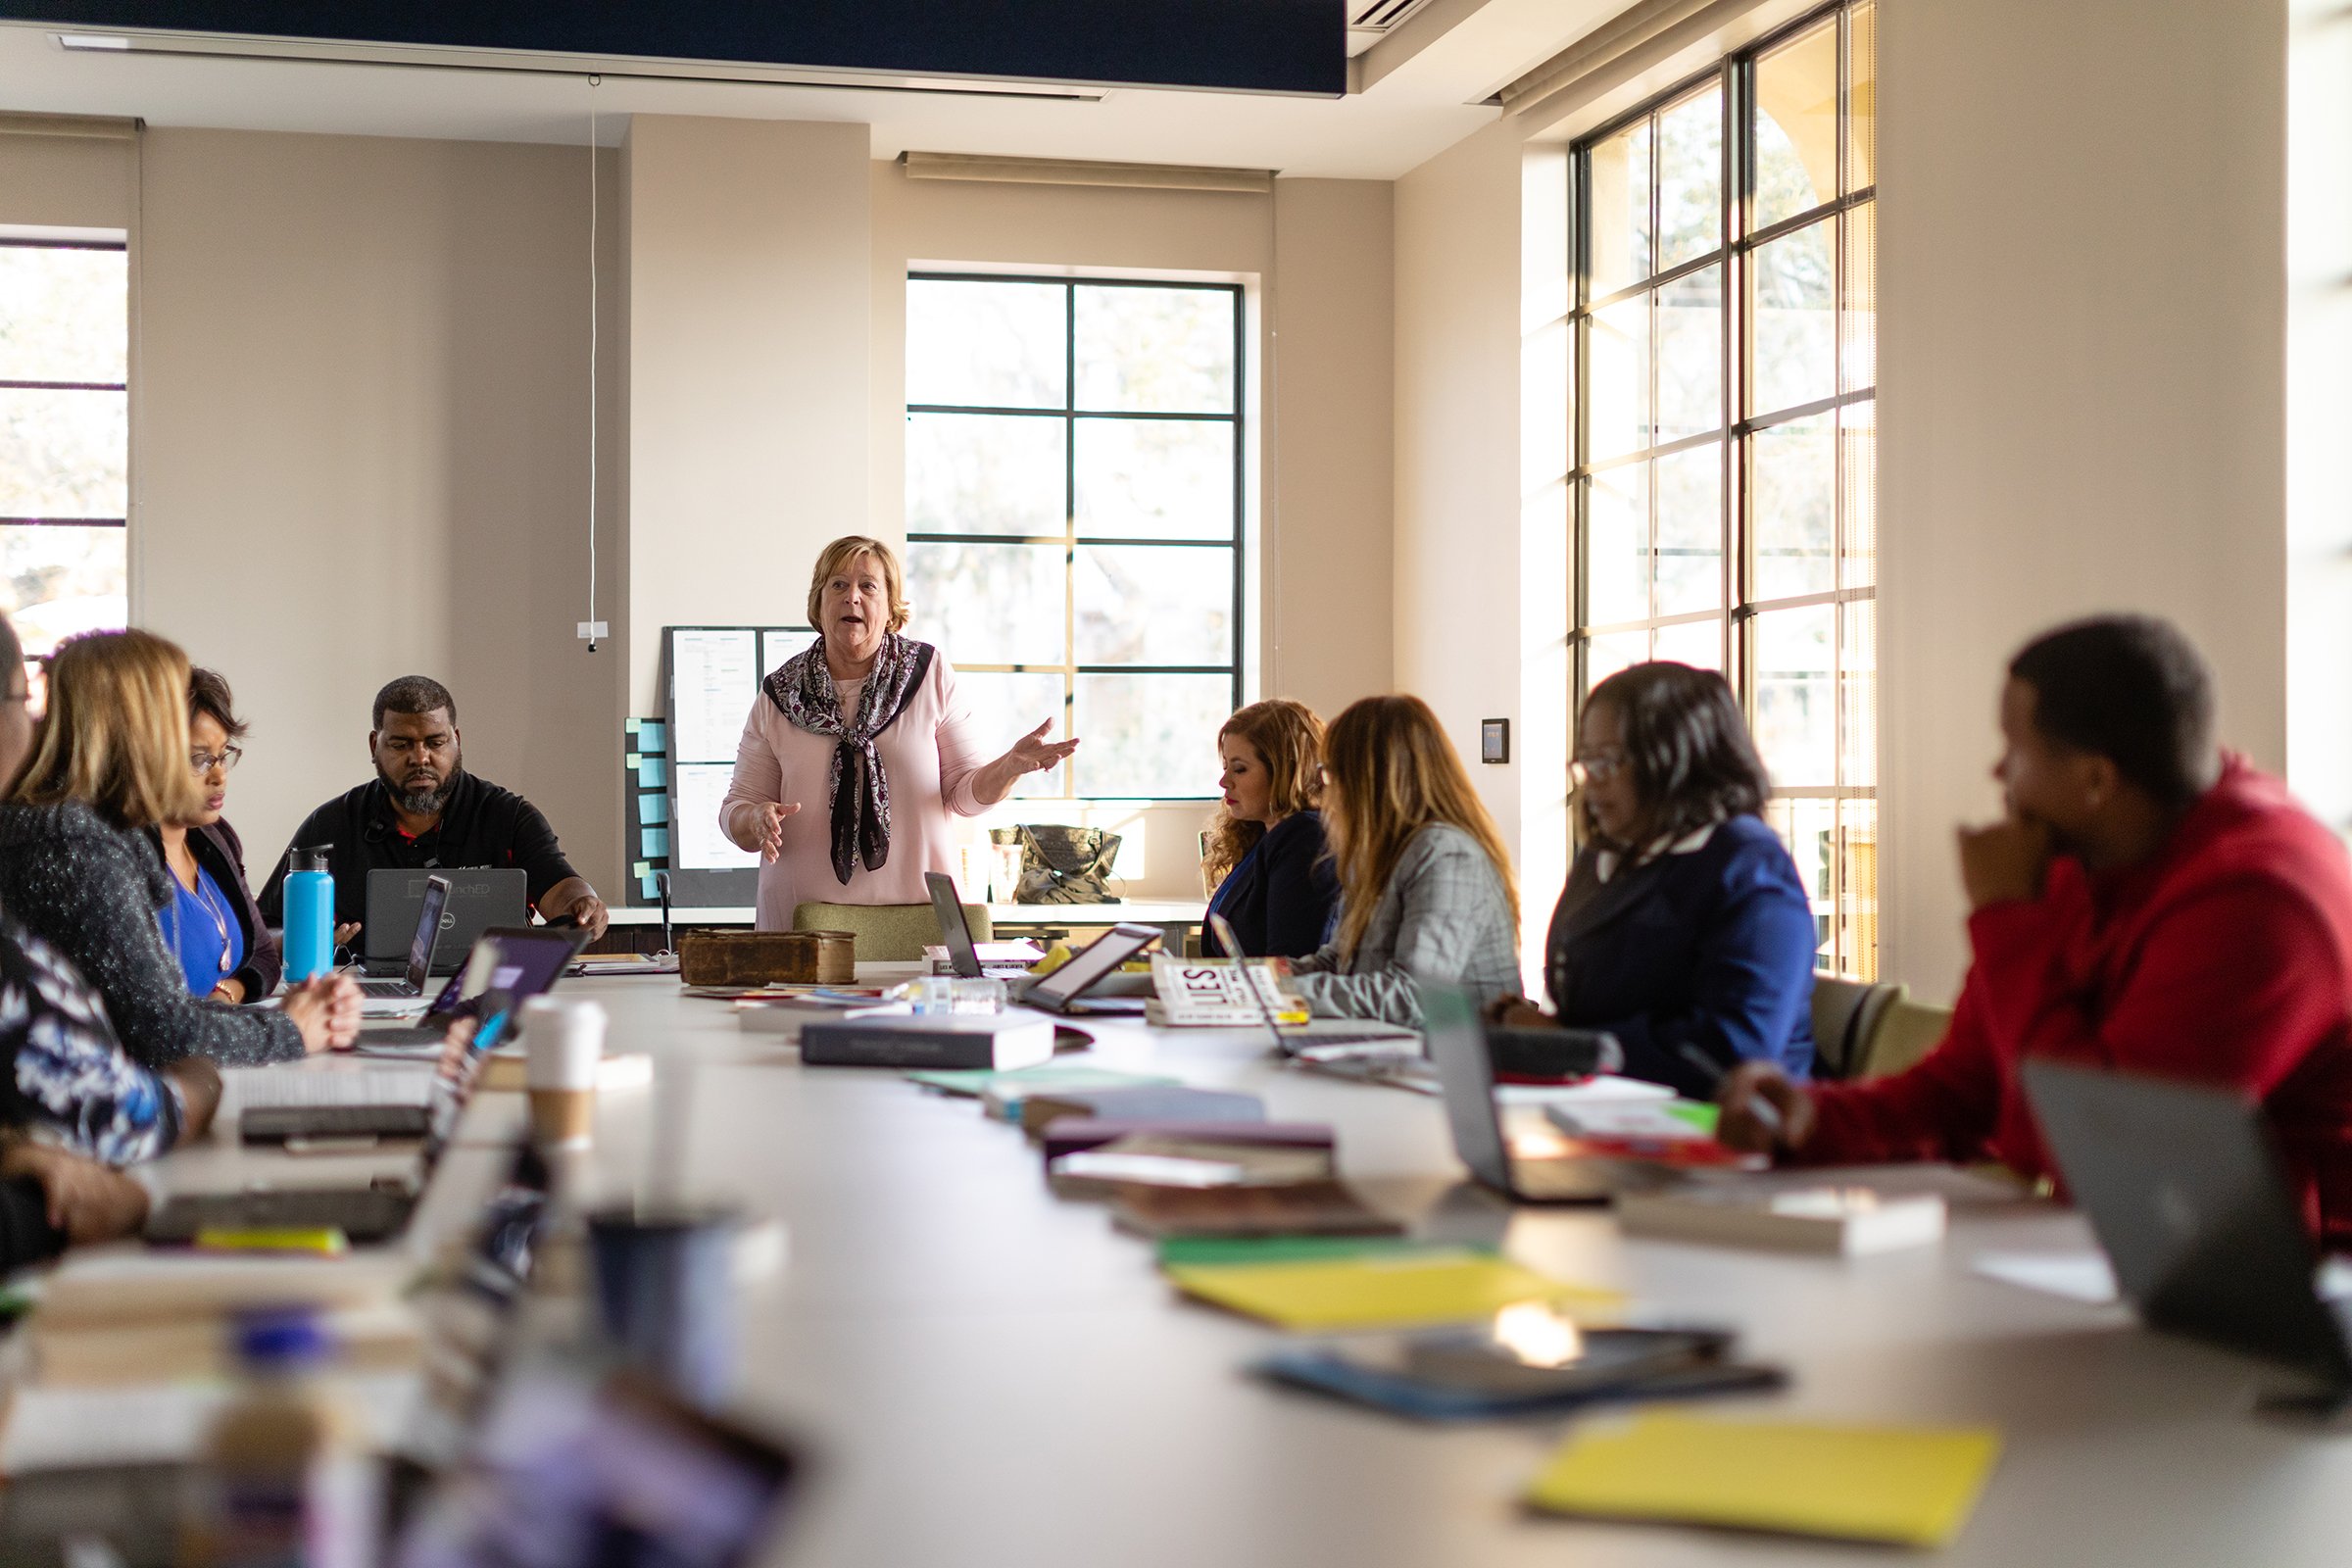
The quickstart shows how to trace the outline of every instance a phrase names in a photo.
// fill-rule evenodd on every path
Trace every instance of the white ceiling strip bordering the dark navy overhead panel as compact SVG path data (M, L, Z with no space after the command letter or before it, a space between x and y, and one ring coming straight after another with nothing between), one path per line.
M581 75L513 71L68 52L54 26L0 24L0 108L461 141L583 141L595 110L607 143L637 113L842 120L873 127L875 158L920 148L1395 179L1494 120L1501 110L1484 99L1496 87L1623 5L1430 0L1357 56L1369 87L1345 99L1117 87L1096 103L612 75L590 87Z

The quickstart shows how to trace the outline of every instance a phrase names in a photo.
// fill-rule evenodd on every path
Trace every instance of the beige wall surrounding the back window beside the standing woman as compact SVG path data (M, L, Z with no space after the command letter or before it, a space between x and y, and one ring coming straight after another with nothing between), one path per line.
M1190 275L1249 284L1256 313L1258 691L1324 715L1390 679L1390 186L1275 181L1275 195L910 181L873 165L873 531L906 531L906 273ZM948 649L955 656L955 649ZM1007 736L1009 741L1009 736ZM1202 783L1216 778L1202 736ZM1011 804L988 823L1073 816L1127 837L1122 889L1197 898L1209 806Z

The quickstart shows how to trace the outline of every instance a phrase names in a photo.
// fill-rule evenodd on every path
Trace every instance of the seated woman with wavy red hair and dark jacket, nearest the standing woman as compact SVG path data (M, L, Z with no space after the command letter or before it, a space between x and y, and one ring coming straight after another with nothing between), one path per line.
M1315 811L1322 719L1305 703L1251 703L1216 731L1225 809L1209 827L1209 910L1232 922L1244 957L1303 959L1324 945L1338 907L1338 870ZM1225 952L1202 926L1202 952Z

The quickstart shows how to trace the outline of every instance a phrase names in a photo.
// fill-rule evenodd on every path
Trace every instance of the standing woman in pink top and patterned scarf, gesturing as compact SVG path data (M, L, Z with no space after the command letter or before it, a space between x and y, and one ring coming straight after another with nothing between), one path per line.
M906 574L880 538L835 538L816 557L818 639L760 684L720 804L727 837L760 856L760 931L788 931L802 903L929 903L922 875L955 870L948 818L1077 750L1047 741L1047 719L983 762L955 670L898 635L906 618Z

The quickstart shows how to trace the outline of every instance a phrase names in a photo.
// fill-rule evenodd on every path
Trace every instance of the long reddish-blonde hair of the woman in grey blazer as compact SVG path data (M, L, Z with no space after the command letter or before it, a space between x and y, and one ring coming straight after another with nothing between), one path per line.
M1355 957L1404 846L1430 823L1477 839L1494 860L1517 926L1519 884L1510 875L1510 851L1430 705L1418 696L1367 696L1331 719L1324 731L1324 835L1338 867L1343 957Z

